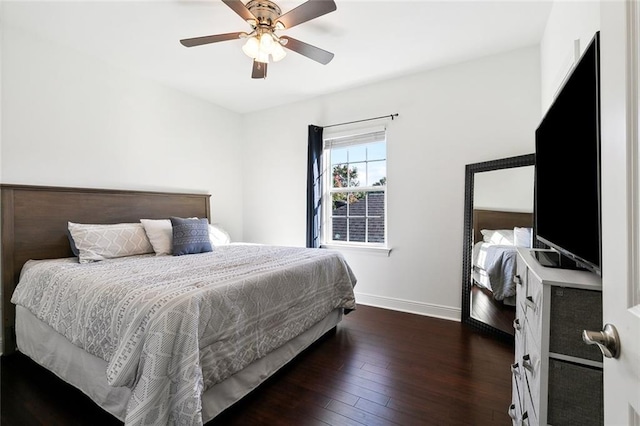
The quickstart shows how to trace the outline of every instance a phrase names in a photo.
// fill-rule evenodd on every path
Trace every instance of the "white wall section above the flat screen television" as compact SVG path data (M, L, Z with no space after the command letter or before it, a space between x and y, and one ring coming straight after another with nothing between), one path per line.
M553 102L556 92L575 60L584 52L599 29L599 1L555 1L553 3L540 42L542 115ZM575 40L579 40L578 55L574 54Z

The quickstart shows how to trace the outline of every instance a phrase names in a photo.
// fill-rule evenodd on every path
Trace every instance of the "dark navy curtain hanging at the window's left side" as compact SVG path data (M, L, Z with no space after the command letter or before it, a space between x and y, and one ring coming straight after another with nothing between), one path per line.
M320 247L322 219L322 127L309 125L307 155L307 247Z

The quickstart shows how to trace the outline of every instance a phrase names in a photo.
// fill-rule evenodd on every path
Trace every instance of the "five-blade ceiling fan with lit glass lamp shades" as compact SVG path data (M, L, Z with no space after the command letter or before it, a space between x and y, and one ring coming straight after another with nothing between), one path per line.
M193 47L220 41L246 39L242 50L253 59L252 78L267 78L269 56L274 62L285 57L283 47L313 59L323 65L333 59L333 53L289 36L278 36L276 31L292 28L303 22L336 10L333 0L307 0L284 15L280 7L269 0L251 0L246 5L240 0L222 0L251 26L251 32L236 32L194 37L180 40L183 46Z

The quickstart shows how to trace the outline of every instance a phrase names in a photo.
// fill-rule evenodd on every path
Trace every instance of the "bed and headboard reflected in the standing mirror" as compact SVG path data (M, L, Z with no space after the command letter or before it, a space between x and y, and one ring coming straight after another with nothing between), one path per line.
M474 209L472 317L513 333L516 248L531 247L532 235L531 212Z

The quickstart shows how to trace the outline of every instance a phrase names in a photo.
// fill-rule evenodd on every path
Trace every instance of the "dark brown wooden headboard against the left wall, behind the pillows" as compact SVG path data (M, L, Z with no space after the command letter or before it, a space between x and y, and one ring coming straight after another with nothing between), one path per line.
M209 194L0 185L2 210L3 354L15 350L11 295L29 259L73 256L67 222L122 223L140 219L210 218Z

